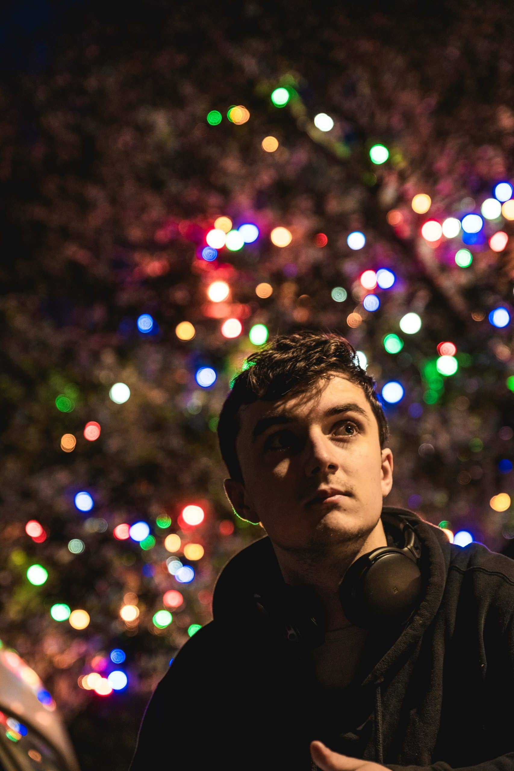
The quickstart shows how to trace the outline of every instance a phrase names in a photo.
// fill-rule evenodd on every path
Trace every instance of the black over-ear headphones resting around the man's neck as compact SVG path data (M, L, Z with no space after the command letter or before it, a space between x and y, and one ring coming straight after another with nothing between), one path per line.
M401 531L403 547L383 546L362 554L339 585L341 608L355 626L382 631L405 625L422 594L422 547L414 528L382 511L382 520ZM311 587L284 584L267 595L254 593L261 616L295 647L324 642L325 611Z

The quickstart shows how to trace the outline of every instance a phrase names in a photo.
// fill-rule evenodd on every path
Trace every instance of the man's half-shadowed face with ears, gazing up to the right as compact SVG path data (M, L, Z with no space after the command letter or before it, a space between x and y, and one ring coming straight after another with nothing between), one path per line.
M225 480L225 492L240 517L261 522L275 549L291 556L354 553L355 544L361 547L370 534L372 540L392 487L392 453L380 449L365 393L334 375L307 394L240 408L237 456L244 485ZM357 409L326 414L348 403ZM294 420L260 430L262 419L277 414ZM346 494L334 503L308 503L318 487Z

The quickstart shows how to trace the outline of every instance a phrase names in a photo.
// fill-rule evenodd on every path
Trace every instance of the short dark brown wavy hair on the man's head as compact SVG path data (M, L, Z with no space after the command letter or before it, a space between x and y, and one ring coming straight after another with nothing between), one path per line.
M307 392L318 379L331 379L334 375L330 373L334 371L343 373L365 392L377 419L380 448L385 448L389 427L375 393L376 381L362 369L353 345L335 332L301 330L278 335L250 354L231 381L217 425L221 457L231 479L244 482L236 450L240 406L258 399L275 401L288 392L294 395Z

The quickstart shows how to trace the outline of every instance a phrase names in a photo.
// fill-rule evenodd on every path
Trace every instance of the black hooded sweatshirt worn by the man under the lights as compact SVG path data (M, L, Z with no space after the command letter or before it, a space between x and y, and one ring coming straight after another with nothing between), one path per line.
M254 620L254 591L283 583L264 537L221 571L213 621L157 685L130 771L312 771L313 739L391 771L514 771L514 561L383 511L415 527L422 601L399 630L368 636L353 684L321 695L308 658Z

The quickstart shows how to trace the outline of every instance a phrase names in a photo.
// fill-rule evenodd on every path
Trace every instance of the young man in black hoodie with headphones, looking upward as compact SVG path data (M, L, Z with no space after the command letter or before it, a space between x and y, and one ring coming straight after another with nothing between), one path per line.
M384 506L388 425L345 338L282 335L247 364L224 489L267 536L221 571L131 771L514 771L514 561Z

